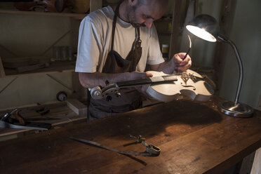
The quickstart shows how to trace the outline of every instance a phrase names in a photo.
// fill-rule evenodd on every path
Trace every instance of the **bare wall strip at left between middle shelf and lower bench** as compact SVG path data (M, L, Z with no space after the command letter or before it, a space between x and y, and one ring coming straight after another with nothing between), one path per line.
M59 79L68 87L72 86L71 72L54 73L51 76ZM0 89L3 89L13 79L15 77L1 78ZM46 74L19 76L0 93L0 109L58 102L56 94L60 91L65 91L67 95L72 93L71 90Z

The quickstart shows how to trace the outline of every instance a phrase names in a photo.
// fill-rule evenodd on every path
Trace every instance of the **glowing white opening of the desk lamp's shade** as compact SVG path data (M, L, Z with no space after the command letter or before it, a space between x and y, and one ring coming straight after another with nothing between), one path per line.
M192 25L187 25L186 28L189 30L189 32L200 37L201 39L204 39L206 41L212 41L212 42L217 41L217 39L215 39L215 37L212 34L210 34L209 32L206 32L205 29L201 29L199 27L194 27Z

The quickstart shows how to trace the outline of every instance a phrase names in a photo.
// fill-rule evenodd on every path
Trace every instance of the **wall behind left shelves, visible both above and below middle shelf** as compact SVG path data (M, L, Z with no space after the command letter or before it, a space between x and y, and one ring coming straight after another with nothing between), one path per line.
M0 4L0 6L3 4ZM1 58L44 55L51 58L53 49L48 49L70 29L68 17L44 15L0 14ZM55 46L69 46L70 35L66 34ZM70 72L51 74L68 88L72 88ZM46 74L14 76L0 79L0 109L36 105L36 103L58 102L56 94L67 87ZM13 81L13 83L11 83ZM10 85L8 85L10 83Z

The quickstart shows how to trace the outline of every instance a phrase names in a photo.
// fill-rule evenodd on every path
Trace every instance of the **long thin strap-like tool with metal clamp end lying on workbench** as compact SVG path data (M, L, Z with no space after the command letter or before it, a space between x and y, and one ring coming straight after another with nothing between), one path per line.
M136 138L136 137L131 135L131 138ZM74 137L70 137L70 139L76 140L78 142L85 143L87 145L94 145L95 147L100 147L102 149L107 149L107 150L112 151L112 152L117 152L119 154L135 155L135 156L159 156L159 154L161 152L161 149L159 147L156 147L156 146L152 145L152 143L149 143L149 144L145 143L145 138L142 137L141 135L139 135L136 138L136 140L137 140L138 143L142 143L142 145L144 145L146 147L146 151L145 152L126 152L126 151L121 151L121 150L118 150L118 149L114 149L112 147L107 147L105 145L101 145L98 142L93 142L93 141L90 141L90 140L83 140L81 138L74 138Z

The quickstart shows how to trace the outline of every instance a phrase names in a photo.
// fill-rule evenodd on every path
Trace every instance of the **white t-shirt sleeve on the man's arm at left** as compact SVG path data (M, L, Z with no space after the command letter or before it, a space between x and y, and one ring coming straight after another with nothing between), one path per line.
M101 41L98 28L88 16L81 21L75 72L96 72Z

